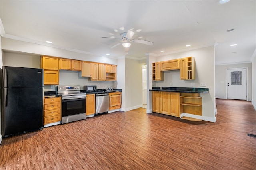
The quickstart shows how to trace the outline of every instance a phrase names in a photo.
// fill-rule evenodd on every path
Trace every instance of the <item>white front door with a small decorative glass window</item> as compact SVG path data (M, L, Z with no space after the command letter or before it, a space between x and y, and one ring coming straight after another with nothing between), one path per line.
M227 69L228 99L246 100L246 68Z

